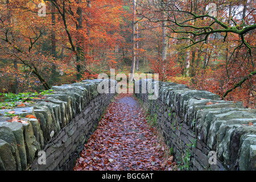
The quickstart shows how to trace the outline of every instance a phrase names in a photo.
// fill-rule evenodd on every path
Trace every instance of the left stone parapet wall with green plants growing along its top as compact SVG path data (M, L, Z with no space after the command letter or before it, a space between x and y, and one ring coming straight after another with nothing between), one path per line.
M0 110L0 170L72 169L114 96L97 92L101 81L53 86L53 94L33 96L25 107ZM8 111L27 123L6 122L11 119L3 117ZM28 115L34 117L24 118Z

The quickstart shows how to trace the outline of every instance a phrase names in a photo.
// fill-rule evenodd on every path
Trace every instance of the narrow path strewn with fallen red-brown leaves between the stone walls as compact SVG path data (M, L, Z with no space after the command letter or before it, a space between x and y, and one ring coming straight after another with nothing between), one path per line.
M74 170L172 170L173 157L158 136L133 95L119 94L84 145Z

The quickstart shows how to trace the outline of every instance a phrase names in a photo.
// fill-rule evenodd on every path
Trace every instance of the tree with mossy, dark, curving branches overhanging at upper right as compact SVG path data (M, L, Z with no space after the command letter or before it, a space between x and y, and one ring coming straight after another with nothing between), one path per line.
M215 56L214 60L217 60L217 57L224 53L222 49L217 52L217 49L220 48L217 47L217 44L229 47L229 49L236 45L230 53L226 51L228 58L225 63L225 82L229 83L229 89L222 93L222 97L226 97L228 93L241 86L246 80L251 80L255 72L256 45L251 41L256 29L255 2L243 1L240 5L238 1L218 1L215 4L216 10L210 9L209 3L208 1L158 0L153 3L142 3L141 6L144 10L139 15L149 22L167 22L166 27L170 30L169 32L174 33L172 35L169 33L167 36L179 43L187 42L187 45L181 49L187 50L187 60L189 61L187 66L189 66L189 76L192 78L196 77L201 62L206 68L209 65L210 56ZM159 8L161 6L163 9ZM216 16L213 16L212 11L216 11L214 12ZM168 14L164 19L157 16L157 14L164 15L166 12ZM202 55L205 55L204 59L202 59ZM247 72L241 72L243 73L242 77L237 76L234 72L237 68L246 67L245 61L238 64L237 60L241 59L241 56L243 60L247 58L251 60L248 62L251 66L248 67ZM237 63L234 64L234 61ZM231 74L233 75L231 76ZM241 78L241 80L234 82L237 78ZM230 88L232 82L233 86Z

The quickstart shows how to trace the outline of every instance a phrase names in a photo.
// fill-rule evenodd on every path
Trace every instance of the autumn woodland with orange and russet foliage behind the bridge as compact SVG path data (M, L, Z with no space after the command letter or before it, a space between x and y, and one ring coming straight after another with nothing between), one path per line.
M254 109L255 10L252 0L2 0L0 93L39 92L114 68L159 73Z

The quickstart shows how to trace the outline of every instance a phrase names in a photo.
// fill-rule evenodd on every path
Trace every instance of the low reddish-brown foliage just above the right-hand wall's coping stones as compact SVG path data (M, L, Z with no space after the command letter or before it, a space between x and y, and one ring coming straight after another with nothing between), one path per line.
M240 61L233 61L228 67L228 73L224 64L212 69L198 69L191 85L194 89L208 90L223 96L223 94L234 87L242 78L250 74L253 68L249 64L243 66ZM255 108L255 85L256 77L252 76L240 87L236 88L225 97L228 101L242 101L243 106Z

